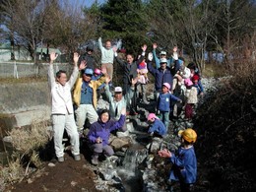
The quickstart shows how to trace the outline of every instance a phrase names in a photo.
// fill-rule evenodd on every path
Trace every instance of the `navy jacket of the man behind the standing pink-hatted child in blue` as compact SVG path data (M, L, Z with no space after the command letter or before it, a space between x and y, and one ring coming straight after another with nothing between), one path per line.
M152 62L149 62L148 70L155 77L156 91L160 92L163 83L168 83L170 86L172 86L173 75L169 67L166 67L164 71L161 68L155 69L152 66Z

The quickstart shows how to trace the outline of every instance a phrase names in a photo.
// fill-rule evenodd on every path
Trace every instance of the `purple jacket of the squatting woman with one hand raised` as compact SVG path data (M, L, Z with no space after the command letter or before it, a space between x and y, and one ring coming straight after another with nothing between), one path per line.
M96 138L100 137L102 139L102 145L108 145L108 139L110 136L110 132L116 129L119 129L123 126L125 121L125 115L121 115L118 121L114 121L110 119L106 123L97 120L90 127L90 131L88 133L88 138L91 143L96 143Z

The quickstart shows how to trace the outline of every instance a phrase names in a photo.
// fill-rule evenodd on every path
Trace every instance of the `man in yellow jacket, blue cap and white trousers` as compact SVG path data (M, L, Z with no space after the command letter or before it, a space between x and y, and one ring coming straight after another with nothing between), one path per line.
M96 113L96 89L104 83L105 69L101 70L102 77L98 80L92 80L94 75L93 69L87 68L82 77L79 77L73 92L73 100L77 107L76 123L78 131L81 133L84 129L86 119L89 119L90 124L93 124L97 120Z

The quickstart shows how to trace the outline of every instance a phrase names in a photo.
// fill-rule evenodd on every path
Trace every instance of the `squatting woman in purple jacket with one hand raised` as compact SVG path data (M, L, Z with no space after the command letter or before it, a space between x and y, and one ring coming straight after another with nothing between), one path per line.
M110 132L121 128L125 121L125 109L122 110L118 121L110 118L109 111L103 109L98 120L91 125L88 133L91 148L94 152L92 163L98 163L98 156L103 152L106 157L114 154L113 149L108 145Z

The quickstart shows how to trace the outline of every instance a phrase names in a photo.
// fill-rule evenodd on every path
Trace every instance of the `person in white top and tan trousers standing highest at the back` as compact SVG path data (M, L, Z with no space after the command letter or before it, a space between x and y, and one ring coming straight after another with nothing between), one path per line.
M102 45L101 37L98 38L98 47L101 52L101 68L105 68L110 79L113 78L114 51L111 41L107 39L105 46Z

